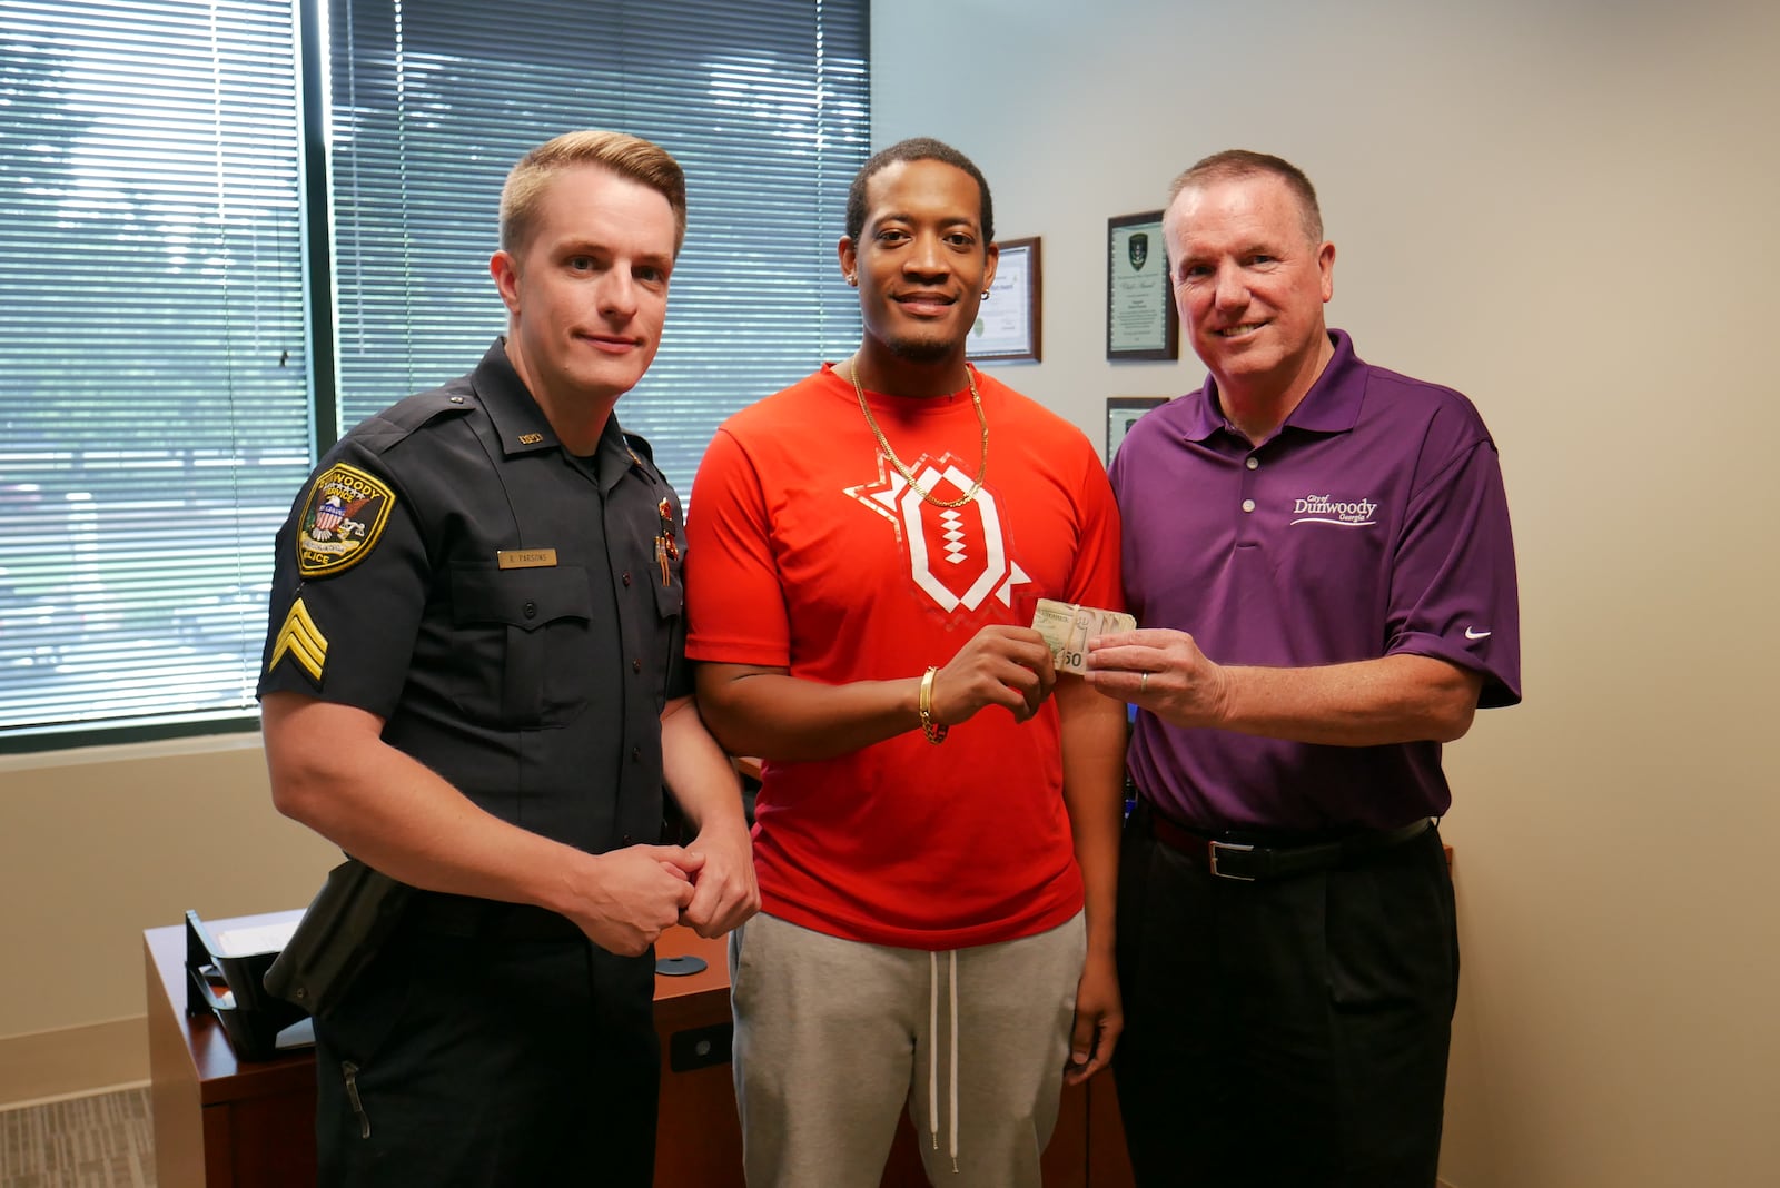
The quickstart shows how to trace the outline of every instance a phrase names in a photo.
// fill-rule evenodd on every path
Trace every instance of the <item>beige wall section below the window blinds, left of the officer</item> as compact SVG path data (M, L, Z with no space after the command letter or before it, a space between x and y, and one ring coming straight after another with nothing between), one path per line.
M0 1044L141 1015L144 928L303 907L336 861L258 734L0 758Z

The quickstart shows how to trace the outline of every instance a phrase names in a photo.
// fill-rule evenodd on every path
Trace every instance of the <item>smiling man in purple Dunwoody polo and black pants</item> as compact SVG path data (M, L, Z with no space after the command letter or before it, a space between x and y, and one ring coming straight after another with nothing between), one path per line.
M1112 487L1137 631L1118 964L1141 1184L1428 1188L1458 994L1440 745L1520 701L1495 443L1449 388L1328 331L1310 180L1207 157L1162 222L1210 377Z

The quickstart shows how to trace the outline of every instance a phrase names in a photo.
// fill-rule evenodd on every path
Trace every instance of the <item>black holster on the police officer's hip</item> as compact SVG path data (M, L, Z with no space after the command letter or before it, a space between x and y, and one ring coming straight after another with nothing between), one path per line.
M402 919L415 889L356 857L328 871L290 943L265 971L265 991L326 1017Z

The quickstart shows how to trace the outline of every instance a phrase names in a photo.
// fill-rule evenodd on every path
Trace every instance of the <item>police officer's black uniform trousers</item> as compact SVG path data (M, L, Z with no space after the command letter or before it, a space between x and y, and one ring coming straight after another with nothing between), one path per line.
M655 964L402 930L315 1024L326 1188L646 1188Z

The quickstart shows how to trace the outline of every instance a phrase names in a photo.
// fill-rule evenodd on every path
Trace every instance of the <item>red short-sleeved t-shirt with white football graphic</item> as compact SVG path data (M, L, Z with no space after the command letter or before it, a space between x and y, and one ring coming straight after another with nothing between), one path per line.
M958 509L883 459L853 384L821 372L732 416L687 514L687 656L844 685L918 676L1040 598L1121 608L1118 512L1073 425L977 375L988 478ZM970 489L968 389L867 393L936 498ZM952 950L1054 928L1082 905L1057 708L990 706L943 745L918 729L819 763L767 763L755 807L765 911L872 944Z

